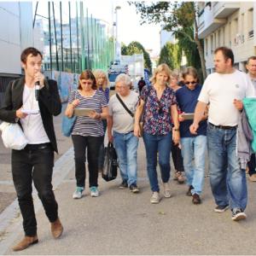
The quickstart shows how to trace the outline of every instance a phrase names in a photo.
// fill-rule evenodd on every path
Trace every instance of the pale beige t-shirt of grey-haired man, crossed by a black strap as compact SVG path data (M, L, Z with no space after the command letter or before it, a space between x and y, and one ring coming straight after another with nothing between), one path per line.
M119 95L120 96L120 95ZM131 90L129 96L122 97L122 101L125 103L126 107L135 113L138 94L137 92ZM113 95L108 102L109 115L113 116L113 131L119 133L127 133L133 131L134 118L128 113L125 108L121 105L116 95Z

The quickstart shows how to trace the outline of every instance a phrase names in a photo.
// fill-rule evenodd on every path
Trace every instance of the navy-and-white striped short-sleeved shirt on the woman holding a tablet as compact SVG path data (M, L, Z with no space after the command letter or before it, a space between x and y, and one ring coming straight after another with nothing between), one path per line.
M104 93L99 90L95 90L92 96L81 96L79 90L73 90L69 96L68 103L71 104L75 99L80 101L76 108L92 108L97 113L102 113L102 108L108 106ZM103 136L102 120L92 119L88 116L78 116L73 126L72 135Z

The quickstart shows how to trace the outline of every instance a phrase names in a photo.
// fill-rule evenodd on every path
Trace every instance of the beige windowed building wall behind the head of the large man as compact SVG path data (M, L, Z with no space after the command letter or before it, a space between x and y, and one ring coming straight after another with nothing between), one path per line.
M249 32L254 32L253 37ZM226 18L226 23L204 38L207 73L212 72L213 52L219 46L230 47L236 67L245 71L245 61L256 55L256 3L241 2L240 9Z

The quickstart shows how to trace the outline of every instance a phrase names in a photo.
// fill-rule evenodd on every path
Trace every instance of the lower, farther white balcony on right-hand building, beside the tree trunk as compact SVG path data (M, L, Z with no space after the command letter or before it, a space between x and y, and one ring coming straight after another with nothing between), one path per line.
M213 3L214 4L214 3ZM207 5L201 15L198 17L198 37L206 38L209 34L223 26L226 19L218 19L213 15L212 6Z

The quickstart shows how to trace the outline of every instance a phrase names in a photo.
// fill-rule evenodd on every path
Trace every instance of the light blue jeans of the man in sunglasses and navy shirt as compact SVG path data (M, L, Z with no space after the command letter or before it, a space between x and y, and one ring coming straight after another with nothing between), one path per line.
M196 137L181 138L183 166L187 177L187 184L193 186L192 195L200 195L205 179L207 137L200 135ZM195 166L192 162L195 160Z

